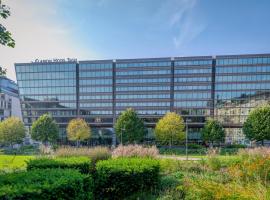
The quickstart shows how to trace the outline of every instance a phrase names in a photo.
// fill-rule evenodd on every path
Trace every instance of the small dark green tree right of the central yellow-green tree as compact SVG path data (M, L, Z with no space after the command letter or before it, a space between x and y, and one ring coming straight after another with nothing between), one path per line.
M210 142L213 145L214 142L225 141L225 131L221 123L214 119L208 119L202 129L202 139L205 142Z

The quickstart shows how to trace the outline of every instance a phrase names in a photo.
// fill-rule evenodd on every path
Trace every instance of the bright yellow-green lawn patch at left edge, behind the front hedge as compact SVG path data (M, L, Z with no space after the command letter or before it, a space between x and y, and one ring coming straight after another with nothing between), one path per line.
M24 170L27 160L33 156L0 155L0 171Z

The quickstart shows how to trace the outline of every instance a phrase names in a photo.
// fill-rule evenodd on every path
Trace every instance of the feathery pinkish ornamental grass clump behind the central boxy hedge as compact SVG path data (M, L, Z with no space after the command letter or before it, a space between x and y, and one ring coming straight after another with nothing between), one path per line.
M156 158L158 157L159 152L155 146L152 147L143 147L141 145L119 145L112 152L113 158L119 157L147 157L147 158Z

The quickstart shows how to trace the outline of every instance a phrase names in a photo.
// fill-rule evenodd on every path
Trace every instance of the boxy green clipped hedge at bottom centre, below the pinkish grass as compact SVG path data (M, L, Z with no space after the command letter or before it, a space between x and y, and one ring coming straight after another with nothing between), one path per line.
M158 186L159 162L149 158L119 158L96 164L96 198L121 199Z

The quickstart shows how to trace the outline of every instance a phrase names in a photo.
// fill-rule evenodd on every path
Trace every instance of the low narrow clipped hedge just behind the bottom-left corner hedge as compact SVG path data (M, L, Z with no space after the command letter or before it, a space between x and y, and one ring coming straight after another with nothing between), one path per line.
M90 172L91 160L87 157L65 157L65 158L37 158L27 162L27 170L33 169L78 169L81 173Z

